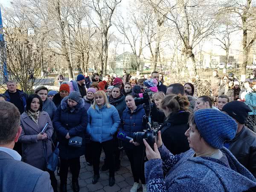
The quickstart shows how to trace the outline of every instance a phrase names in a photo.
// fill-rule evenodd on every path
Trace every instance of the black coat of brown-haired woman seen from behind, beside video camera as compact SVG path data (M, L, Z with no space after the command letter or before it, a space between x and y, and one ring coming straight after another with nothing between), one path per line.
M174 155L188 151L189 142L185 136L188 130L189 112L171 113L161 126L161 137L166 148Z

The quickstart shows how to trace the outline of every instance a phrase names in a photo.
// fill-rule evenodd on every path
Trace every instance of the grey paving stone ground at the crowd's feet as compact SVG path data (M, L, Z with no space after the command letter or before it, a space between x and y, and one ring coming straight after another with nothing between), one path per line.
M80 158L80 174L79 174L79 186L80 192L130 192L131 187L134 184L134 180L131 173L130 162L125 152L123 153L123 157L121 160L121 168L119 171L115 173L116 183L114 186L108 186L108 171L102 172L101 167L104 163L104 153L102 152L102 156L100 158L100 178L98 183L95 185L92 184L93 177L93 166L88 166L84 156ZM67 190L68 192L73 192L72 190L72 174L69 171L67 176ZM56 179L58 181L58 187L60 186L60 177L56 174ZM58 188L59 190L59 188ZM138 190L138 192L142 192L142 188Z

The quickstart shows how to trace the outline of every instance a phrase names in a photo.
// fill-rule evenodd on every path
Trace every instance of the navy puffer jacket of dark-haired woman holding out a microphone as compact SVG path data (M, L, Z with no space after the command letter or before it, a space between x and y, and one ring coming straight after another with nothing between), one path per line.
M143 116L145 110L142 105L137 106L137 109L131 113L131 109L126 107L122 113L121 123L119 125L120 131L124 131L128 137L133 138L135 132L143 131ZM122 142L124 148L132 149L135 147L132 143Z

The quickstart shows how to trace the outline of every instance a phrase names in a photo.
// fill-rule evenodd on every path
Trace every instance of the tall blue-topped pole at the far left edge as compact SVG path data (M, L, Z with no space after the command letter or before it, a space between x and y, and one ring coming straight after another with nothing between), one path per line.
M0 70L3 70L3 75L1 75L1 81L6 83L8 81L7 72L7 55L6 55L6 44L3 37L3 22L0 7Z

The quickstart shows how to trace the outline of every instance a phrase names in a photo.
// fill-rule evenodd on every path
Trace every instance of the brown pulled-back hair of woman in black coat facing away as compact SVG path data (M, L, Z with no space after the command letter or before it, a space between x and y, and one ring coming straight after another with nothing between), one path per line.
M163 98L160 104L161 108L170 108L173 112L189 111L189 105L187 96L182 96L181 94L169 94Z

